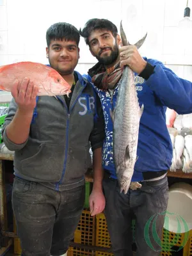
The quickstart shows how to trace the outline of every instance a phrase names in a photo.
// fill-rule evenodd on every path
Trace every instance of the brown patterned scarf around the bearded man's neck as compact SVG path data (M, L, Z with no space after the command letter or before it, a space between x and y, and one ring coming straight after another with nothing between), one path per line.
M115 88L120 77L122 76L123 68L120 67L120 61L115 66L106 70L103 64L99 62L90 68L88 74L92 77L92 82L101 90Z

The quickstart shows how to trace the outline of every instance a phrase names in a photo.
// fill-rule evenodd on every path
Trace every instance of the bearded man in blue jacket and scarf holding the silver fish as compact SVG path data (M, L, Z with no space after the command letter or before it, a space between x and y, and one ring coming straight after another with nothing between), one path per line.
M115 24L110 20L88 20L83 30L80 29L80 35L84 37L90 52L98 60L98 63L88 70L86 77L92 81L100 97L106 122L106 138L102 148L102 186L106 198L104 212L114 255L132 255L133 215L136 218L136 255L159 255L164 214L168 204L166 173L172 164L173 151L165 112L166 107L175 109L179 114L192 112L192 84L177 77L160 61L142 58L135 45L120 48L121 38ZM129 65L134 72L138 100L140 106L144 105L140 120L138 159L131 180L140 182L142 186L136 190L129 189L126 195L120 193L116 177L113 120L110 115L110 111L115 109L124 65ZM101 169L97 177L102 180ZM97 202L104 204L101 185L98 183L97 181L97 186L93 186L90 195L92 211L95 210L94 205L99 208ZM149 225L153 221L154 225Z

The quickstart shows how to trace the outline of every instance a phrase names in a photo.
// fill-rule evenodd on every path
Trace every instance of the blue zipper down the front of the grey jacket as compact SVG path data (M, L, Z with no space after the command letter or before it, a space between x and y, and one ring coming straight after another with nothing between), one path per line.
M60 181L56 182L56 190L58 191L60 188L60 184L63 181L63 177L65 175L65 169L66 169L66 165L67 165L67 155L68 155L68 126L69 126L69 120L70 120L70 112L72 111L72 109L74 108L77 100L79 99L79 97L81 96L81 93L83 92L84 87L82 88L81 92L79 92L79 94L76 97L76 100L74 100L74 103L72 104L71 108L67 108L67 104L65 104L66 108L67 108L67 131L66 131L66 147L65 147L65 161L64 161L64 166L63 166L63 172L61 175L61 179ZM63 100L61 100L63 102ZM64 103L64 102L63 102Z

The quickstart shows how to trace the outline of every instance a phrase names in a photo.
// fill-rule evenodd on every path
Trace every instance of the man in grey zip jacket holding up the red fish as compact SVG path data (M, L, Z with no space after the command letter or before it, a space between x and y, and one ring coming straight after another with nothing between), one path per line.
M100 100L74 71L79 37L79 31L65 22L53 24L46 33L47 58L70 84L69 97L37 97L35 81L15 81L3 125L4 143L15 150L12 203L24 256L67 252L83 211L90 143L93 168L102 168Z

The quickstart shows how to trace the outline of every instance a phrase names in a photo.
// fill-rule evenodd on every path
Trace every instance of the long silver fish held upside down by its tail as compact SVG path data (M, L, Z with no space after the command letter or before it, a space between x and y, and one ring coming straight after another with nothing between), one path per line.
M130 45L122 28L122 22L120 24L120 35L123 45ZM140 48L146 36L147 34L135 44L137 48ZM143 105L140 108L134 72L129 66L125 66L116 106L114 112L111 113L114 125L113 150L116 175L120 184L120 191L121 193L124 191L125 194L130 187L137 158L138 133L142 113ZM134 185L139 188L141 186L138 182L134 182Z

